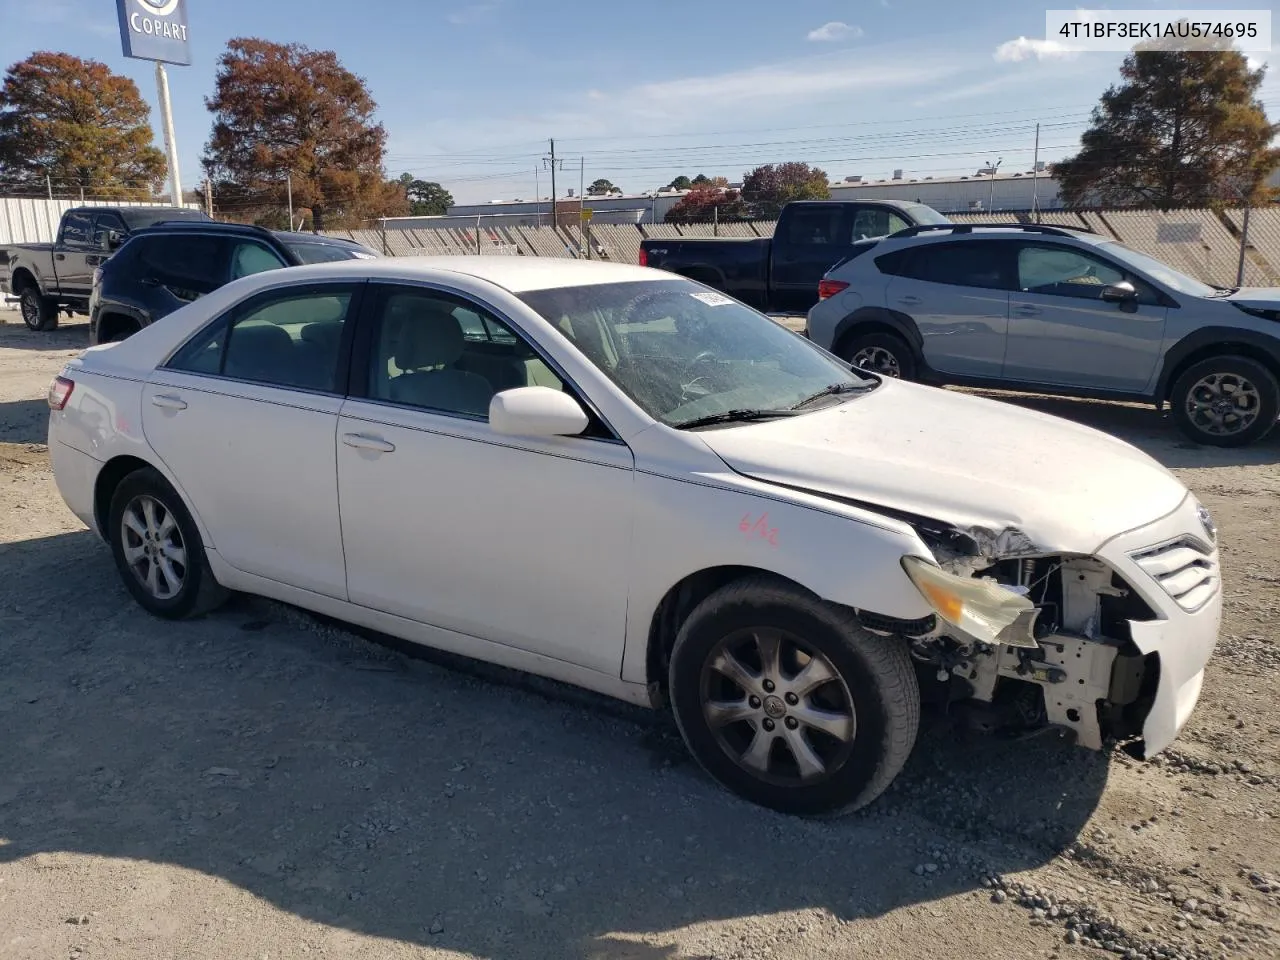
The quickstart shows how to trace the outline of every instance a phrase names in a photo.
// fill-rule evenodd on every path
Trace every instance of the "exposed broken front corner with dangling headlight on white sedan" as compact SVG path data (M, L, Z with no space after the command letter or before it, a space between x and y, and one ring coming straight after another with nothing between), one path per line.
M1012 527L913 526L937 564L913 557L904 568L936 616L865 625L906 637L923 687L987 730L1059 727L1094 750L1140 733L1158 660L1130 623L1156 614L1110 566Z

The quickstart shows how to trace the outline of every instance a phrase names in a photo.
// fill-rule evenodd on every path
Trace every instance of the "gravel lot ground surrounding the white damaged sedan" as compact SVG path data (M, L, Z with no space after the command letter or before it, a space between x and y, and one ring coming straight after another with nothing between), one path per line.
M809 823L713 786L660 717L262 600L145 616L44 447L86 326L0 319L0 957L1280 955L1280 435L1006 397L1213 511L1199 709L1152 763L927 716L873 809Z

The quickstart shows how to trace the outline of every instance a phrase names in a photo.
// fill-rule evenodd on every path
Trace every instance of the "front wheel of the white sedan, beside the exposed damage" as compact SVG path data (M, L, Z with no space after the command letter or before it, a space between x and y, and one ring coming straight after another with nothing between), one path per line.
M751 803L803 817L865 806L915 744L920 692L902 643L773 577L703 600L676 637L676 723L690 753Z

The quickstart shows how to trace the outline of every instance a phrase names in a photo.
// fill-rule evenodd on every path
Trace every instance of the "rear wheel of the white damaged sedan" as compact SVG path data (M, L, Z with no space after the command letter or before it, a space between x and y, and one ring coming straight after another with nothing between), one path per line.
M228 591L214 580L200 530L156 470L136 470L111 495L111 554L125 589L148 613L186 620L216 609Z

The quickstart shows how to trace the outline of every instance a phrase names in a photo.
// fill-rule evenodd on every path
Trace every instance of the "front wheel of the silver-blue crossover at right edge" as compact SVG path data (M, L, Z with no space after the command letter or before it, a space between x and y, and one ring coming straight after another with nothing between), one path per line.
M1192 364L1170 390L1174 422L1196 443L1245 447L1276 425L1280 385L1249 357L1220 356Z

